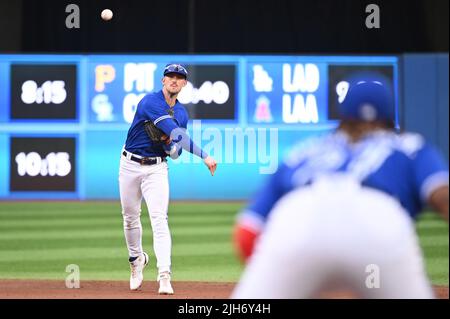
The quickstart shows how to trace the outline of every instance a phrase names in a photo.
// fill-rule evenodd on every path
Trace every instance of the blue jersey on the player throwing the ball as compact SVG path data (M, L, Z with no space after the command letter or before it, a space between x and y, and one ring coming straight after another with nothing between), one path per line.
M162 90L145 95L137 105L136 114L128 130L125 149L133 154L145 157L166 157L167 153L163 146L154 144L145 132L144 122L147 120L153 121L157 127L164 128L163 131L166 131L165 127L168 125L165 122L167 121L174 122L170 123L169 127L177 126L186 129L189 115L184 106L177 100L172 107L173 118L169 115L169 110L170 106L166 103ZM170 131L168 133L170 135Z

